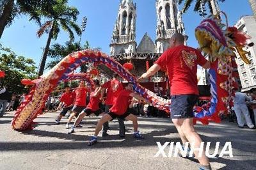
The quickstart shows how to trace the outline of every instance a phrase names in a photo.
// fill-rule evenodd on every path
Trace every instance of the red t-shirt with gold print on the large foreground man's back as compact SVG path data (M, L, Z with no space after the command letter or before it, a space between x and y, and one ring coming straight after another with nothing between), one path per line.
M179 45L166 50L156 64L167 69L171 95L198 95L197 65L202 66L206 62L200 51Z

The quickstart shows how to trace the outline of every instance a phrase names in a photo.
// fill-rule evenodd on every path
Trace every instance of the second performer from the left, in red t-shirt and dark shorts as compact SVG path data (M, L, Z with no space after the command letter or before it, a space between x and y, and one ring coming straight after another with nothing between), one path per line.
M69 123L72 121L74 116L78 116L78 114L86 107L86 95L88 93L88 89L84 87L84 81L80 81L79 87L76 88L74 92L76 93L76 99L72 109L72 114L68 118L66 128L69 128ZM81 127L81 125L79 125L79 127Z

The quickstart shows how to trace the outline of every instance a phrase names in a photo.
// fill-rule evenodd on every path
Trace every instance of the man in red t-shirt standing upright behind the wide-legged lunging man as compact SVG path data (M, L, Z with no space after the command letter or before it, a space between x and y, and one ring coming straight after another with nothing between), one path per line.
M113 73L113 79L111 81L105 82L101 88L101 97L103 98L104 92L107 90L106 100L105 100L105 112L109 111L109 108L115 103L120 91L123 89L122 83L120 82L120 76L117 73ZM125 136L125 126L124 120L118 118L119 123L119 135L120 137ZM102 137L108 135L107 131L109 129L108 122L103 125Z

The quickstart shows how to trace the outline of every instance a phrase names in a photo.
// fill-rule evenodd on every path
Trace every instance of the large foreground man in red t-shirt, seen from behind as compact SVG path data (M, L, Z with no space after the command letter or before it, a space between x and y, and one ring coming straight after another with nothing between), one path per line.
M139 80L147 79L161 68L167 70L171 89L172 121L183 144L194 143L195 148L200 148L202 140L193 127L193 107L198 99L197 65L209 68L210 62L202 56L200 51L185 46L184 36L176 33L170 38L169 49L157 59L146 73L141 75ZM205 152L202 157L198 157L198 151L195 151L195 155L203 167L211 168Z

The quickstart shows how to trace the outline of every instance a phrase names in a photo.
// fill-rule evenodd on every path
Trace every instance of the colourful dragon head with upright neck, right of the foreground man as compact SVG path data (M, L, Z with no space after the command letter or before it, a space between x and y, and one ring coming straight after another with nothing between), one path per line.
M235 78L239 76L234 72L237 69L235 52L244 63L250 63L243 50L250 36L237 31L236 27L223 27L225 25L221 24L221 20L211 16L203 20L195 31L200 49L208 54L211 61L211 105L208 109L195 112L196 118L202 118L203 123L208 120L220 122L220 115L227 114L228 107L232 105L232 88L238 87Z

